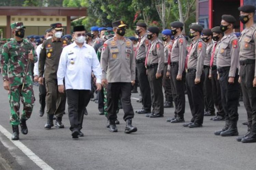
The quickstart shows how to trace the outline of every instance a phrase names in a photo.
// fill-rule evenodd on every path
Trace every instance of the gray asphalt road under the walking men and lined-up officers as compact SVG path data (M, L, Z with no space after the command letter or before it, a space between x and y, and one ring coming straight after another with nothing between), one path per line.
M0 79L0 125L12 133L7 91L3 89ZM166 122L174 112L174 108L168 108L163 118L146 118L145 115L135 114L133 125L137 126L138 131L125 134L124 113L120 110L118 133L110 133L106 128L105 116L98 115L98 105L90 102L87 107L89 114L84 117L82 129L85 136L74 140L67 114L63 116L65 129L44 129L46 115L39 117L38 87L35 86L34 91L37 100L33 114L27 121L29 133L20 134L20 141L53 169L256 169L256 143L241 143L235 137L213 134L222 128L224 121L213 122L209 120L210 117L204 117L203 128L184 128L181 123ZM132 94L132 98L139 98L139 94ZM141 108L135 99L131 101L134 111ZM246 120L246 112L243 103L240 104L238 128L239 133L244 134L247 127L242 122ZM186 99L185 121L189 122L190 118ZM3 143L3 146L0 145L0 156L8 159L13 169L40 169L1 133L0 141ZM8 148L12 158L2 148Z

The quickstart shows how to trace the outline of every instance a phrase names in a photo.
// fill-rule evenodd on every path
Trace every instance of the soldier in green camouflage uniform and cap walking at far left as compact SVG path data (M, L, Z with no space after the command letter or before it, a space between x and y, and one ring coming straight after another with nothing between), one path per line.
M14 39L4 44L1 55L3 86L5 90L9 90L10 123L13 128L12 140L19 140L19 124L21 132L24 135L28 133L26 120L30 118L35 101L29 60L33 63L37 62L37 55L33 45L28 40L23 39L25 28L22 22L11 24ZM24 105L21 119L19 118L20 100Z

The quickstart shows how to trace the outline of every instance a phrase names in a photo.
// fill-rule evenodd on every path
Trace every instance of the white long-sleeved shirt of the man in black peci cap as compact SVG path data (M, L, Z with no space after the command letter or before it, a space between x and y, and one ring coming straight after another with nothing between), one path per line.
M91 73L101 83L101 67L93 47L84 43L80 48L72 43L63 48L57 71L58 85L66 89L91 90Z

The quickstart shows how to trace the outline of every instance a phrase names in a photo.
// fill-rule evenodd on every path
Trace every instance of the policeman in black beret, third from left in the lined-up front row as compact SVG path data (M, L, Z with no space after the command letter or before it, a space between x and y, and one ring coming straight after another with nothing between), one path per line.
M174 117L167 119L171 123L184 122L185 113L185 60L187 40L182 35L184 24L174 21L170 24L174 41L171 49L168 72L172 83L172 94L174 96Z

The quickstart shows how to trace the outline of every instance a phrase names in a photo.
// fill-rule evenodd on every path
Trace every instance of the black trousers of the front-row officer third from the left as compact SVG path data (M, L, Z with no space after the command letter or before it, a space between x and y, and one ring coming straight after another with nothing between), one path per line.
M176 114L183 118L185 113L185 82L186 82L186 73L183 71L182 73L182 80L177 81L176 77L178 75L179 71L179 65L171 65L171 82L172 82L172 94L174 98L174 104L175 104L175 116Z

